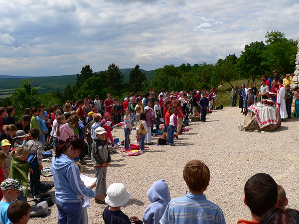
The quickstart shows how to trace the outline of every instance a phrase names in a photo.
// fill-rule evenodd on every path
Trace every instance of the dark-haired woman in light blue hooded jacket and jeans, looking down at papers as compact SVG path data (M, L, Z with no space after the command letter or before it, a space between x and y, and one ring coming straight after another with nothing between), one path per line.
M79 168L73 161L85 149L84 141L70 137L59 140L56 155L51 160L54 178L58 224L82 224L82 197L104 200L105 196L84 188Z

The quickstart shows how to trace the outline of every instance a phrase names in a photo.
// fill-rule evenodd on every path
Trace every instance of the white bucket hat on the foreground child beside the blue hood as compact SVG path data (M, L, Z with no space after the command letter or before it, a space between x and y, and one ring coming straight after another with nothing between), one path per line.
M111 207L119 207L125 205L130 199L130 192L124 184L114 183L107 189L105 202Z

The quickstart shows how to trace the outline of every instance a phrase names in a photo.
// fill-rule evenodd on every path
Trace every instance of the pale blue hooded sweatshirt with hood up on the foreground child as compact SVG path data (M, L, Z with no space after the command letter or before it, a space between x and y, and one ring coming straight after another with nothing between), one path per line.
M154 182L148 190L151 204L147 207L143 221L145 224L159 224L167 204L170 202L170 192L167 183L161 179Z

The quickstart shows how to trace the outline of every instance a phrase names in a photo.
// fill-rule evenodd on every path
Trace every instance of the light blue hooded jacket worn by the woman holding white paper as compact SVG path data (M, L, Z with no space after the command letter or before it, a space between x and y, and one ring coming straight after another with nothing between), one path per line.
M97 193L84 188L79 168L67 155L61 154L51 160L56 200L60 203L79 203L81 197L95 198Z

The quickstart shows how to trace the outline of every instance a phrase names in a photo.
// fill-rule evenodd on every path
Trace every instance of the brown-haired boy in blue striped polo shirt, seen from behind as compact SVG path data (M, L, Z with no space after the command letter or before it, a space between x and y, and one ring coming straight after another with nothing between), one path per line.
M203 194L209 185L209 168L200 160L189 161L183 171L189 193L172 199L161 224L225 224L222 210Z

